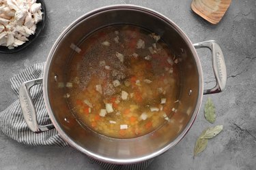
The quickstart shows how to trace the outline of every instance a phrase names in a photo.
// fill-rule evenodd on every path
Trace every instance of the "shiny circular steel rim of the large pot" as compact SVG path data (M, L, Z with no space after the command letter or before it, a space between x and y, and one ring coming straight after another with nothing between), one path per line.
M106 10L115 10L115 9L141 10L143 12L154 14L154 16L158 16L162 20L165 20L165 22L168 22L168 24L171 24L171 26L174 27L174 29L182 36L184 41L186 41L186 43L188 44L188 46L189 46L189 48L190 48L190 50L191 50L191 52L194 56L195 63L197 65L197 71L198 71L198 74L199 74L199 92L198 92L197 104L195 106L193 115L190 118L190 121L188 122L188 124L186 125L186 127L184 128L182 133L180 133L180 135L178 135L171 143L169 143L164 148L162 148L162 149L160 149L156 152L153 152L152 154L149 154L147 156L140 157L140 158L129 158L129 159L107 158L106 156L100 156L96 153L89 152L85 148L79 146L75 141L70 139L70 137L68 137L68 135L66 135L66 133L61 129L61 126L59 126L57 120L55 119L53 111L51 109L50 101L49 101L49 98L48 98L48 85L47 85L48 84L48 73L49 73L48 71L49 71L49 68L50 68L50 65L51 65L51 61L53 59L53 54L55 52L55 49L57 48L61 39L66 35L66 33L68 33L68 31L70 31L77 23L81 22L83 19L85 19L85 18L87 18L87 17L89 17L93 14L97 14L98 12L103 12L103 11L106 11ZM199 57L197 55L195 47L193 46L193 43L190 41L190 39L187 37L187 35L184 33L184 31L182 31L182 29L180 29L180 27L178 27L177 24L175 24L172 20L167 18L167 16L164 16L163 14L160 14L159 12L156 12L156 11L150 9L150 8L141 7L139 5L130 5L130 4L106 5L104 7L99 7L96 10L92 10L90 12L87 12L86 14L83 14L83 16L77 18L76 20L74 20L74 22L72 22L70 25L68 25L68 27L59 35L59 37L55 41L55 44L53 44L53 47L51 48L51 51L48 54L48 57L47 57L47 60L46 60L46 65L44 67L43 95L44 95L44 102L45 102L45 105L46 105L46 109L47 109L48 115L51 118L51 121L53 122L53 125L55 126L55 128L57 129L57 131L61 135L61 137L66 142L68 142L68 144L70 146L72 146L73 148L76 148L76 150L79 150L80 152L83 152L84 154L87 154L87 156L91 156L92 158L96 158L97 160L101 160L101 161L106 162L106 163L131 164L131 163L138 163L138 162L141 162L141 161L144 161L144 160L148 160L150 158L154 158L154 157L166 152L170 148L173 148L173 146L175 146L178 142L180 142L183 139L183 137L186 135L186 133L188 133L189 129L191 128L191 126L195 122L195 118L197 117L197 114L198 114L199 109L201 107L201 101L202 101L202 98L203 98L203 73L202 73L201 63L199 61Z

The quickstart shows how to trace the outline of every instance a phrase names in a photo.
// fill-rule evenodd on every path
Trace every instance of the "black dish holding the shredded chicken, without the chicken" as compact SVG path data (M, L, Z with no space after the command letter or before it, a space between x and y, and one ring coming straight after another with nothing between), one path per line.
M44 3L44 0L37 0L36 2L41 3L42 20L40 22L38 22L38 24L36 24L35 33L33 35L29 35L29 37L27 37L27 39L29 39L29 41L25 41L25 43L23 45L14 47L14 49L10 50L8 47L0 46L0 53L12 54L14 52L19 52L20 50L27 48L27 46L29 46L29 44L31 44L33 41L35 41L35 39L38 37L38 35L40 35L40 33L44 29L44 25L45 25L46 6Z

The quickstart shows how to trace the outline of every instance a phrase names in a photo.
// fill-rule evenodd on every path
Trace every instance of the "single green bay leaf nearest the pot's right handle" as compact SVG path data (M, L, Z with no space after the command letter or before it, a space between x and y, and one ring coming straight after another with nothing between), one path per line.
M212 103L212 99L209 97L204 106L205 119L210 123L214 123L216 120L215 107Z

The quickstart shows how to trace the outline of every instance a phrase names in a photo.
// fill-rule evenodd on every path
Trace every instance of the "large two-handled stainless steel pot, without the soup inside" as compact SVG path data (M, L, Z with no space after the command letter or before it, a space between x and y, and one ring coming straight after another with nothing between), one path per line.
M74 52L70 44L79 46L90 33L112 24L133 24L161 35L172 48L171 50L182 60L179 63L181 80L179 99L182 104L177 105L180 114L176 115L186 122L178 134L171 133L175 126L170 121L157 131L142 137L113 139L83 129L74 120L63 98L63 88L57 88L58 82L66 82L65 75L68 71L66 66ZM216 78L216 86L212 89L203 90L203 73L195 48L209 48L212 52L212 66ZM158 12L135 5L111 5L81 16L61 33L48 55L43 80L25 82L20 86L20 105L29 129L35 133L55 127L70 146L88 156L107 163L137 163L154 158L175 146L195 121L203 94L221 92L226 86L226 81L223 52L215 41L192 44L174 22ZM44 101L53 122L45 126L38 124L29 95L29 88L40 83L43 83Z

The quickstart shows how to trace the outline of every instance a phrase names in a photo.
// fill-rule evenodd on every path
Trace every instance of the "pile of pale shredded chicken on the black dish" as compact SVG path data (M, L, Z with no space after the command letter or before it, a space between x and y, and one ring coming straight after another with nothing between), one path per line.
M41 3L31 0L0 1L0 46L21 46L42 20Z

